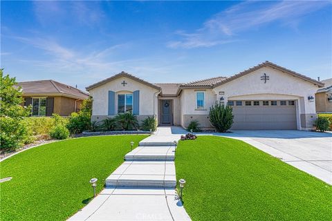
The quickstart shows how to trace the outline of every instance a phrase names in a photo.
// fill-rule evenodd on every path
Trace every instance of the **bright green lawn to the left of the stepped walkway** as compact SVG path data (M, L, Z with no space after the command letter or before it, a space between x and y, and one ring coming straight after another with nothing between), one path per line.
M84 137L45 144L0 163L1 220L65 220L93 195L89 180L104 180L123 162L129 142L145 135Z

